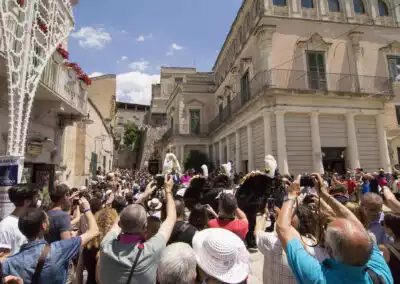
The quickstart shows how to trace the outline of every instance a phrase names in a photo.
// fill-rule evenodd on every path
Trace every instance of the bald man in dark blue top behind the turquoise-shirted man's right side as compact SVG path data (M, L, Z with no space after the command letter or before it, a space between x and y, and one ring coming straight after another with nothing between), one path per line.
M393 242L381 225L381 221L383 221L385 216L382 212L382 206L383 200L376 193L368 192L364 194L361 199L361 209L366 228L375 235L378 245L390 244Z

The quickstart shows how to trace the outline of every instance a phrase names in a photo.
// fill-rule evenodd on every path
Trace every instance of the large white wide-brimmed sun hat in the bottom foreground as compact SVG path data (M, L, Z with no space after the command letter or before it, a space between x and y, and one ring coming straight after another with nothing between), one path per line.
M241 283L250 274L250 254L243 241L225 229L206 229L193 237L197 265L225 283Z

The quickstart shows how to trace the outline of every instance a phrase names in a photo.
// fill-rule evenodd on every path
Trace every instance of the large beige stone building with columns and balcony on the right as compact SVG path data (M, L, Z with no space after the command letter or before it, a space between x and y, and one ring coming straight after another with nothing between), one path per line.
M265 154L284 174L390 171L400 146L399 4L243 1L210 89L182 82L167 103L168 121L186 125L188 102L204 99L196 103L206 130L182 137L170 127L163 149L173 143L182 159L196 144L237 172L263 169Z

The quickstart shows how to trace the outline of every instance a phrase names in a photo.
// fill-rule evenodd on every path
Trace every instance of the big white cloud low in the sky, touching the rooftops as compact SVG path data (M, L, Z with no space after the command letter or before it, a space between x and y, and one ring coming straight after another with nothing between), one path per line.
M151 75L139 71L117 75L117 100L149 105L151 85L160 82L160 75Z

